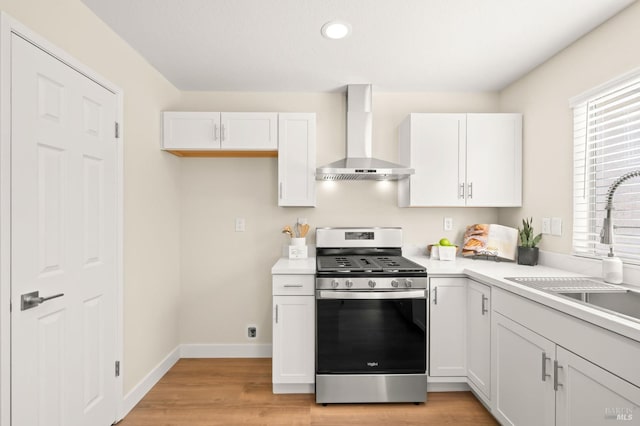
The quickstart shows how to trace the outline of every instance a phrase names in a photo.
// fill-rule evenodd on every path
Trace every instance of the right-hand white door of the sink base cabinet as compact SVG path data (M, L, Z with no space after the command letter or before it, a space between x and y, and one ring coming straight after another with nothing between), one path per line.
M640 425L640 388L560 346L557 361L557 426Z

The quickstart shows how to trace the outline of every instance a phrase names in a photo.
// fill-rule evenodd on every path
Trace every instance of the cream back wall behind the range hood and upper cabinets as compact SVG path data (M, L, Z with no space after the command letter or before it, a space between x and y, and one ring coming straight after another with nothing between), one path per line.
M397 159L397 126L410 112L497 111L495 93L380 93L374 87L373 153ZM317 164L344 157L345 97L341 93L187 92L174 110L317 113ZM184 158L182 161L182 343L271 342L270 269L286 242L280 232L297 217L317 226L401 226L407 243L426 246L447 236L459 243L464 226L492 223L492 208L400 209L396 183L319 182L316 208L277 205L274 158ZM451 216L454 230L444 232ZM236 233L236 217L246 232ZM310 243L315 243L312 236Z

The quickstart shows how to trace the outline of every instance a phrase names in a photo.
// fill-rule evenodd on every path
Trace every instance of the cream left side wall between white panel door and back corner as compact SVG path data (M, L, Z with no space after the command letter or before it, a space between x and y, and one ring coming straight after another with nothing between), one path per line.
M179 92L79 0L0 9L124 91L124 392L178 339L180 161L160 152L160 111Z

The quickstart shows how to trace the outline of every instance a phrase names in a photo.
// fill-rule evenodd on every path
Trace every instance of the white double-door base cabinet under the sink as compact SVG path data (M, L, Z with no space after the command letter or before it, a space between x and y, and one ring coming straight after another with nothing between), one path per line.
M535 307L532 302L511 306L510 309L521 322L529 324L531 320L535 321L531 324L536 324L545 321L545 310ZM537 319L530 316L532 313ZM591 326L585 323L583 327L588 329ZM548 330L564 328L569 329L570 325L556 320ZM501 424L640 425L639 387L585 359L586 355L578 356L496 311L492 315L492 333L492 411ZM570 335L575 334L570 331ZM562 332L557 335L561 336ZM585 334L581 337L591 336ZM571 338L566 341L574 344ZM594 353L619 350L602 343L604 341L597 338L591 341ZM636 374L628 379L637 378Z

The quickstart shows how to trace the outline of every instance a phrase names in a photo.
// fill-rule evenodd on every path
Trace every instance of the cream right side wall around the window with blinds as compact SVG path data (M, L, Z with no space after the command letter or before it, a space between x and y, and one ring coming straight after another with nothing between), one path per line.
M544 236L544 250L571 253L573 116L569 98L640 67L640 3L613 17L500 94L503 111L524 114L523 199L500 209L499 222L517 226L533 216L563 220L562 237Z

